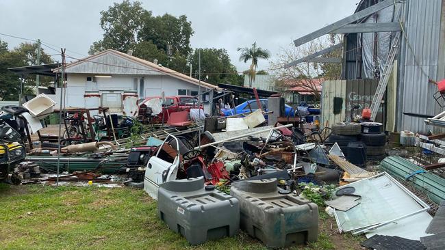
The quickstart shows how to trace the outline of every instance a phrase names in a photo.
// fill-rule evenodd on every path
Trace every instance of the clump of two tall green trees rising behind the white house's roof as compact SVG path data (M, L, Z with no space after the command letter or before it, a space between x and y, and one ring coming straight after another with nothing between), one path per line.
M140 1L114 3L108 10L101 12L100 25L104 31L103 39L93 42L88 52L90 55L109 48L123 53L133 49L138 51L138 55L150 55L149 57L170 52L170 57L179 58L172 58L170 61L179 66L192 52L190 37L193 29L187 16L152 16L150 11L144 10ZM153 46L147 42L154 44L159 51L154 51ZM144 44L138 46L140 43ZM150 50L142 52L142 48Z

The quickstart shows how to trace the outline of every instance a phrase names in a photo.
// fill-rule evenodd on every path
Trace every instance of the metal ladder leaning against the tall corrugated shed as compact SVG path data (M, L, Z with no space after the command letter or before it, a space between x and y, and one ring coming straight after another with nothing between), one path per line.
M385 67L383 68L383 73L380 77L379 84L377 85L377 89L375 89L374 97L372 98L371 103L371 120L375 120L377 116L377 111L379 111L379 107L381 104L381 100L383 98L383 94L385 94L387 82L390 80L392 68L394 66L394 59L396 58L398 46L401 38L401 31L396 32L396 36L391 44L390 53L388 53L388 57L386 59Z

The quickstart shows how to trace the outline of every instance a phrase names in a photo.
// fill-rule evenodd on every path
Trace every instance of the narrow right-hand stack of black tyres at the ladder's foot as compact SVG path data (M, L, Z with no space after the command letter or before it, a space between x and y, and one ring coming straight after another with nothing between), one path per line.
M381 159L385 157L386 135L382 132L383 124L379 122L362 122L361 141L366 144L368 159Z

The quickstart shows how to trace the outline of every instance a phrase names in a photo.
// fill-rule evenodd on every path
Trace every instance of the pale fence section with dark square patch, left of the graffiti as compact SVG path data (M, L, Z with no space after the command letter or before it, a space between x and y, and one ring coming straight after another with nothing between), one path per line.
M324 128L326 122L330 128L336 122L343 122L346 118L346 99L343 100L342 111L334 115L333 113L333 98L346 96L346 80L324 81L321 97L321 127Z

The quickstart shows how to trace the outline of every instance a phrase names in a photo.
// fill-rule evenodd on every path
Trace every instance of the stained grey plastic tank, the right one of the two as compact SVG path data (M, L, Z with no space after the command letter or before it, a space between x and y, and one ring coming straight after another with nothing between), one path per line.
M271 248L316 241L318 206L280 190L275 178L233 183L230 194L240 202L241 229Z

